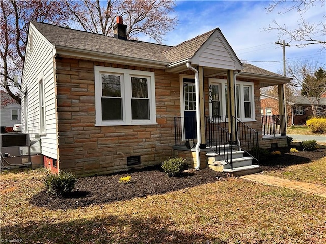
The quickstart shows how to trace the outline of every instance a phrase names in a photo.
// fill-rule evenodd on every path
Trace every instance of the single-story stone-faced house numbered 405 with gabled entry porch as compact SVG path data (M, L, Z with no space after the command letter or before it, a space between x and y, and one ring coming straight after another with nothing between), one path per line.
M202 168L232 144L248 153L287 144L285 126L262 137L259 89L278 85L283 98L291 79L242 64L219 28L177 46L125 30L121 17L114 37L30 23L22 130L41 138L46 168L99 175L172 156ZM233 153L222 154L233 170Z

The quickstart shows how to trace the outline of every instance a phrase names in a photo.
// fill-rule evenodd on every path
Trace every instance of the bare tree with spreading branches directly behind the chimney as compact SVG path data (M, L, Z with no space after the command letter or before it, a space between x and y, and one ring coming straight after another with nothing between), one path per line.
M161 43L162 37L173 30L177 24L172 0L64 0L70 10L69 18L76 23L76 28L87 32L112 35L112 28L117 16L124 18L127 25L127 38L138 39L146 35Z

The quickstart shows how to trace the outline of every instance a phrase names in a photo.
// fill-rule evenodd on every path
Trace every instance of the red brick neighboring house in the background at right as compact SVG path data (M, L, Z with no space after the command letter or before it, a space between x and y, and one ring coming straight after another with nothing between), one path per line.
M304 125L308 116L312 116L311 103L317 104L316 98L314 97L303 97L303 96L291 96L291 101L293 102L293 125ZM326 97L320 98L317 115L326 115Z

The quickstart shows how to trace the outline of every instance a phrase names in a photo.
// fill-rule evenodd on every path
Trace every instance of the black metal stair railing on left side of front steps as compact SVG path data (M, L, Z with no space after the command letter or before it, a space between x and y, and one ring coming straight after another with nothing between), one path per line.
M226 118L226 117L225 117ZM205 116L206 145L218 153L233 170L231 135L225 120Z

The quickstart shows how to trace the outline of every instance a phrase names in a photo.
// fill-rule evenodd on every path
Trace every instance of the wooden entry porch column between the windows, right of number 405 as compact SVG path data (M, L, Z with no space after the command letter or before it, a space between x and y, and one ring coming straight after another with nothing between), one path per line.
M228 126L229 132L232 134L231 140L235 142L237 140L236 133L236 121L233 120L232 116L235 115L235 80L234 80L234 70L227 71L227 81L228 81Z

